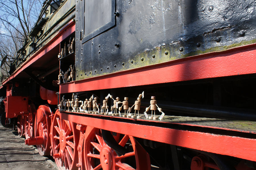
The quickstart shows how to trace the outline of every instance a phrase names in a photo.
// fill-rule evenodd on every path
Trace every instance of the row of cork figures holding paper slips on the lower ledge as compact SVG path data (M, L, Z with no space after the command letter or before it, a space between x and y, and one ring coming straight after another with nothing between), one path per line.
M113 99L113 106L110 109L110 112L108 111L108 99ZM142 116L139 114L140 106L141 106L141 98L144 98L144 92L142 94L139 94L139 97L135 101L134 105L132 107L129 107L128 104L128 97L124 98L124 101L121 102L119 97L113 98L112 95L108 94L107 97L103 100L103 105L101 108L101 111L99 109L99 106L97 104L98 98L97 97L90 97L90 99L85 99L85 101L79 101L78 98L74 99L72 96L72 100L68 99L65 100L64 96L62 98L62 101L59 104L59 109L62 111L73 111L73 112L85 112L85 113L92 113L92 114L104 114L104 115L112 115L112 116L120 116L121 117L121 110L123 108L124 114L123 117L127 118L137 118L141 119ZM82 103L81 105L79 103ZM122 104L122 105L121 105ZM118 107L118 105L120 107ZM79 107L80 106L80 107ZM63 109L64 107L64 109ZM70 110L70 107L72 110ZM92 107L92 110L91 110ZM134 107L134 108L133 108ZM131 111L134 109L134 114L132 115ZM151 110L151 116L147 115L147 112ZM158 110L161 114L160 117L156 116L156 110ZM137 111L137 116L136 116ZM154 115L153 115L154 111ZM117 113L118 112L118 113ZM162 109L158 107L156 104L156 97L151 96L150 100L150 106L146 108L146 111L144 112L144 115L147 119L153 119L153 120L162 120L164 117L164 112L162 112Z

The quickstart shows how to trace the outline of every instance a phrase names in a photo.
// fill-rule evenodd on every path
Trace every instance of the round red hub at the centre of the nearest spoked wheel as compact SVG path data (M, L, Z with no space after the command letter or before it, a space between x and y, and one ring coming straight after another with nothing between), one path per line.
M110 170L112 167L112 154L111 148L108 146L103 146L100 151L100 163L103 170Z

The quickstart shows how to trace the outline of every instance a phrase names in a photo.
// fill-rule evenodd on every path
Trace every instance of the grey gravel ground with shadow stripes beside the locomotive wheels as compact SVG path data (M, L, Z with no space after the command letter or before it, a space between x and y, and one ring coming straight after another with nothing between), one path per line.
M53 170L55 167L34 150L27 146L24 138L19 138L17 132L0 125L0 170Z

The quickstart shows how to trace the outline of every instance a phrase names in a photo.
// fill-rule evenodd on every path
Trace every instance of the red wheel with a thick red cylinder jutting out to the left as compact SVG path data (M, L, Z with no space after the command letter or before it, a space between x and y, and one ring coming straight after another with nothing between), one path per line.
M43 139L42 145L37 145L40 155L45 156L50 154L50 130L51 130L51 109L48 105L40 105L36 111L35 117L35 137Z

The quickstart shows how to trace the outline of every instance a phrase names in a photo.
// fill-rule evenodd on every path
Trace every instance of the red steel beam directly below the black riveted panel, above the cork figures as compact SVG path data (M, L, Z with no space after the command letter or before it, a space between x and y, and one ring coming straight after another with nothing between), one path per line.
M256 44L87 78L60 86L60 93L142 86L256 73Z

